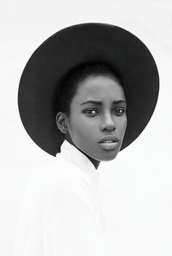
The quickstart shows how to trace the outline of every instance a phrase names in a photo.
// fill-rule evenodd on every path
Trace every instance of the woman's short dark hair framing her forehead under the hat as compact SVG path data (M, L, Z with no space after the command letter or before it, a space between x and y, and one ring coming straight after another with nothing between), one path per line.
M82 64L81 66L72 69L60 84L58 96L55 96L55 112L65 113L66 116L69 117L71 113L71 101L77 93L78 84L89 76L94 77L98 75L109 76L122 84L119 75L112 71L107 64L104 64L103 62Z

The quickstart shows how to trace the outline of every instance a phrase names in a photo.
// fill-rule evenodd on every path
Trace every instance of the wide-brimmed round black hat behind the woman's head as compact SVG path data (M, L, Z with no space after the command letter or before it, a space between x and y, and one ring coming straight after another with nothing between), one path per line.
M55 94L63 78L84 63L103 62L122 78L128 127L122 147L141 134L155 110L159 76L152 54L138 37L118 26L83 23L49 37L28 60L18 106L32 140L47 153L60 152L64 135L55 124Z

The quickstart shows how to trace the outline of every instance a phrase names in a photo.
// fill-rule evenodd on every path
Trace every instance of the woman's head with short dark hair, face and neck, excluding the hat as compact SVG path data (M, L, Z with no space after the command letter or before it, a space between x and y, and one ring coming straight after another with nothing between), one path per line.
M127 117L125 93L114 72L102 63L75 69L64 81L57 102L58 129L96 169L100 161L116 157Z

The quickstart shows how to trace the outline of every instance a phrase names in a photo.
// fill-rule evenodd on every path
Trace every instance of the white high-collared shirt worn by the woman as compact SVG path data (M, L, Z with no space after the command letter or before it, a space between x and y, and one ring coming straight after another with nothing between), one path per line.
M109 256L98 194L98 170L64 140L52 165L28 182L15 256Z

